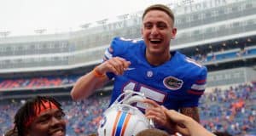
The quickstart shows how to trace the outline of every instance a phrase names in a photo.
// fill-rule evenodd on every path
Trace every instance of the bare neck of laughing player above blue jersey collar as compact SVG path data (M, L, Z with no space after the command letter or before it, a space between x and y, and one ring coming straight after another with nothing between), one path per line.
M171 54L148 54L146 52L146 59L150 65L158 66L166 63L169 59L171 59Z

